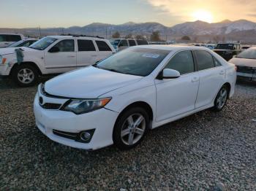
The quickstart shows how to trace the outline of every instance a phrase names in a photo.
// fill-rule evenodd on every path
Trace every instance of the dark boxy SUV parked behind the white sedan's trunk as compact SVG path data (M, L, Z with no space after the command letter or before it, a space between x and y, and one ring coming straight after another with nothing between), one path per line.
M214 52L222 56L226 61L229 61L234 55L238 55L241 51L240 43L219 43L214 49Z

